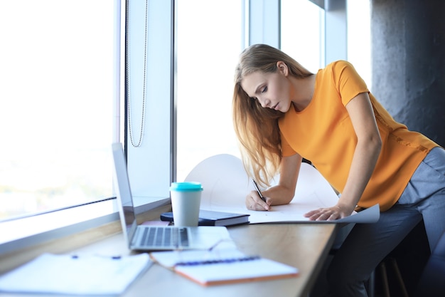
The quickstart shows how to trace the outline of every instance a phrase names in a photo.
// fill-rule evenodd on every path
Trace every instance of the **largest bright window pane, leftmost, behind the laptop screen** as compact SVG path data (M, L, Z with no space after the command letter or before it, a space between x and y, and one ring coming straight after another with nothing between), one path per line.
M0 220L112 196L114 1L1 1Z

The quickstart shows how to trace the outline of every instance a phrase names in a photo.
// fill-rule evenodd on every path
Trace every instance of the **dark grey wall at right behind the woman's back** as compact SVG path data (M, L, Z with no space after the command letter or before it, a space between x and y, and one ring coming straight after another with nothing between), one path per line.
M445 1L372 0L372 93L445 146Z

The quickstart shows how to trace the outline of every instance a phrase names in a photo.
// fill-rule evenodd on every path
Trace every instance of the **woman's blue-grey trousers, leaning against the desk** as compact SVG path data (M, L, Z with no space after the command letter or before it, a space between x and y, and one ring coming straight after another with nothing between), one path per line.
M355 224L326 271L328 296L368 296L365 281L372 271L422 219L432 250L445 231L445 150L441 147L429 152L399 201L380 213L377 223Z

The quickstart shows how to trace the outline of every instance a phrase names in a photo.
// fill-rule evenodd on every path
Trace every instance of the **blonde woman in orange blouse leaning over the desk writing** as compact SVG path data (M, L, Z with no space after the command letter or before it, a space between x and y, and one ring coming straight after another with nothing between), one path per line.
M233 120L247 172L263 186L246 207L267 211L294 198L302 158L341 193L311 220L333 220L380 204L380 220L356 224L328 269L334 296L367 296L377 264L424 219L429 246L445 230L445 150L395 122L353 66L313 74L267 45L245 49L235 71ZM298 197L296 197L298 199Z

